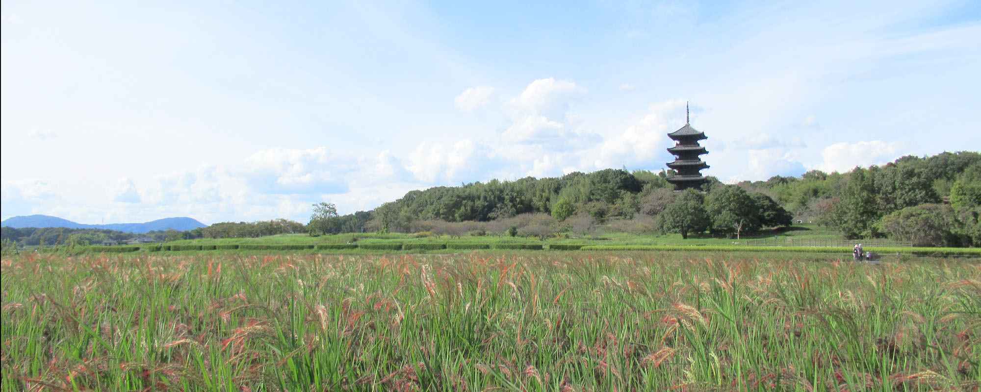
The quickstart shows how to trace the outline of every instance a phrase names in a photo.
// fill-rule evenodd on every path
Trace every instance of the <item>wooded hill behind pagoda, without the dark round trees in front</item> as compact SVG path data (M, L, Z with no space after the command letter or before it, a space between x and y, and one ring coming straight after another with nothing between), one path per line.
M413 221L493 221L525 213L549 214L558 221L574 215L599 221L653 217L677 195L665 180L670 174L608 169L411 191L377 208L369 228L402 231L411 229ZM703 186L706 207L716 190L732 187L709 179ZM940 242L964 243L964 235L970 237L971 230L981 239L978 152L906 156L881 167L845 173L811 171L800 177L778 175L766 181L740 182L736 187L755 197L756 206L768 205L765 199L770 199L797 220L838 227L848 237L893 236L920 229L901 227L899 221L909 221L901 220L902 215L929 217L920 221L947 227L934 231L959 233L960 239L942 234L947 239Z

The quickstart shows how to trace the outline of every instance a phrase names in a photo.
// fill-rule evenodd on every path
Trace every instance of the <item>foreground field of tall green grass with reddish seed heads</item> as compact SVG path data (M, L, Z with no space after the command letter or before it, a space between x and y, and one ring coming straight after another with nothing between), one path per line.
M27 254L21 390L977 390L981 265L831 255Z

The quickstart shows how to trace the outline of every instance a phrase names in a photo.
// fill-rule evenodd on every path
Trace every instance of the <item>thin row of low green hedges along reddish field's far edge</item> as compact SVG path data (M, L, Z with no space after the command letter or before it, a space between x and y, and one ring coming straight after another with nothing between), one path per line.
M220 245L150 245L138 246L91 246L89 252L124 253L145 250L160 251L211 251L211 250L344 250L367 249L378 251L433 251L449 250L543 250L542 244L461 244L461 243L361 243L361 244L220 244ZM716 252L805 252L805 253L851 253L847 247L805 247L805 246L731 246L731 245L582 245L551 244L550 250L557 251L684 251L697 249ZM880 254L905 254L917 256L981 256L981 248L892 248L869 247L866 250Z

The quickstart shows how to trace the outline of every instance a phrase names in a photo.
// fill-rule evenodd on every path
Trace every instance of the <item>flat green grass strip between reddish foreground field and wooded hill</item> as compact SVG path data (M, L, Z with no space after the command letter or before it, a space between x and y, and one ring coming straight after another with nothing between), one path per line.
M429 233L345 233L310 236L284 234L258 238L199 238L162 244L115 247L47 248L45 252L79 255L86 253L160 252L222 253L248 255L282 251L309 254L447 254L472 250L607 250L607 251L712 251L712 252L794 252L835 254L849 257L852 242L864 242L865 250L887 257L966 256L981 258L981 248L916 248L886 240L845 241L840 235L817 225L798 225L786 230L764 231L741 239L695 236L682 239L678 234L639 235L608 232L598 235L561 235L544 239L506 235L448 236Z

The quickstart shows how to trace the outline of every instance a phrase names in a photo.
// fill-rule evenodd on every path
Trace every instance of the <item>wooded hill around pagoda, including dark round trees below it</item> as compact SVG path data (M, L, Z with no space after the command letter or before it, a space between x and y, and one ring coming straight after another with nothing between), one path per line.
M834 227L846 238L981 244L977 152L906 156L881 167L776 175L735 185L708 177L704 192L697 194L671 192L665 180L671 174L609 169L439 186L380 206L365 227L412 231L420 221L436 227L438 221L496 221L523 214L547 214L558 222L585 216L600 223L647 216L656 219L655 229L684 236L710 232L738 237L803 221Z

